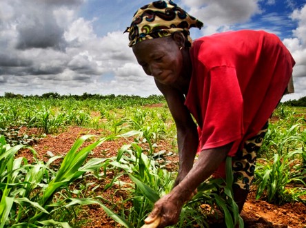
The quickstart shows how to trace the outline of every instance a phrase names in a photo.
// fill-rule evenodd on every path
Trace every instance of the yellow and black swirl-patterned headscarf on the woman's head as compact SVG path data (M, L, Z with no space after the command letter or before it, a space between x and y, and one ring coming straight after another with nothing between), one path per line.
M159 37L170 36L173 32L181 31L189 37L192 27L201 29L203 23L195 19L185 10L179 8L173 1L154 1L137 10L132 19L129 32L129 46Z

